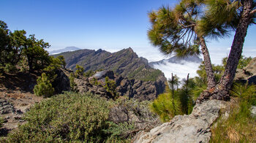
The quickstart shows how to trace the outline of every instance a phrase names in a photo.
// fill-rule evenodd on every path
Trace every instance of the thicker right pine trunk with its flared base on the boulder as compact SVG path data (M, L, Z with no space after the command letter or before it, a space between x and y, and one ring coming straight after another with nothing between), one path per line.
M233 39L233 44L231 46L230 55L227 59L227 65L225 67L224 74L214 89L204 91L200 97L197 98L197 103L201 103L208 98L215 98L225 101L230 99L228 90L230 90L234 77L236 76L236 68L243 51L247 28L249 23L252 22L252 15L250 15L250 12L252 12L252 7L253 0L243 1L243 12L241 13L238 27L236 28L236 34Z

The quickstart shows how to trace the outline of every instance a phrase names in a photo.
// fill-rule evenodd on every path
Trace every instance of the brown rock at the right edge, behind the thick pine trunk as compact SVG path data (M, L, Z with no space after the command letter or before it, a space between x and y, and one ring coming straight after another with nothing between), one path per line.
M249 84L256 84L256 58L252 58L252 61L244 69L237 69L234 80L244 83L248 81Z

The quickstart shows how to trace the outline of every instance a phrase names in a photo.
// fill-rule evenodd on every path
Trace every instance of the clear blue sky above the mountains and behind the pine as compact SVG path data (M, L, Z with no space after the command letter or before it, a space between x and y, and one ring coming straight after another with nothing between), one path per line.
M45 39L51 45L49 50L75 46L115 52L132 47L138 55L157 61L167 57L148 41L147 13L176 3L176 0L1 0L0 20L12 31L24 29L28 35ZM256 56L255 36L256 28L251 26L244 55ZM214 63L220 63L227 55L232 40L233 36L219 42L208 40Z

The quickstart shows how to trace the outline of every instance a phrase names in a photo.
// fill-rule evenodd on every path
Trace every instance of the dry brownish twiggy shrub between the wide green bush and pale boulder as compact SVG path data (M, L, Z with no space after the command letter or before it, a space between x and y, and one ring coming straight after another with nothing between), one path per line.
M130 132L132 136L138 131L150 130L161 123L159 117L148 109L148 102L127 99L121 100L110 109L108 120L135 125L134 130Z

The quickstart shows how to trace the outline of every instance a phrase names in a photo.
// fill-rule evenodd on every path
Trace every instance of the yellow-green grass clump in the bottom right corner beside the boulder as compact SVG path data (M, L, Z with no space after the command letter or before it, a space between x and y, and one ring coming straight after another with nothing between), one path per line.
M211 133L211 142L256 142L256 119L251 117L249 105L233 105L229 117L219 119Z

